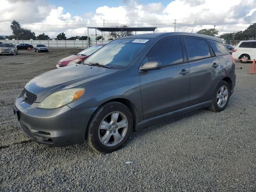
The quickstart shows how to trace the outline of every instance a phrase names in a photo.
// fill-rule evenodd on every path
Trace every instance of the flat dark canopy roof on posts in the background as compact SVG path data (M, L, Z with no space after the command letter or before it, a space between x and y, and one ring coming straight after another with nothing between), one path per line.
M154 31L156 27L88 27L89 29L97 29L104 32L115 31Z

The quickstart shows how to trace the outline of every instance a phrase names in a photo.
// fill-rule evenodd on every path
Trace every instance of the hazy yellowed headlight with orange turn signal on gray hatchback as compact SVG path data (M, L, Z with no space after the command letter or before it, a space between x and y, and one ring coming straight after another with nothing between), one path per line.
M67 105L84 94L84 88L67 89L63 91L55 92L46 97L39 105L38 108L42 109L54 109Z

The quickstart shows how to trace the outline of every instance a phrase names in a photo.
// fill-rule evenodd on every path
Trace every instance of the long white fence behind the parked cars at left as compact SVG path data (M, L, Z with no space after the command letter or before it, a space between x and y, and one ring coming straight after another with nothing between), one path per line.
M25 43L35 46L36 44L45 44L49 48L86 48L88 47L87 40L1 40L1 42L12 42L17 44ZM90 46L110 41L91 41Z

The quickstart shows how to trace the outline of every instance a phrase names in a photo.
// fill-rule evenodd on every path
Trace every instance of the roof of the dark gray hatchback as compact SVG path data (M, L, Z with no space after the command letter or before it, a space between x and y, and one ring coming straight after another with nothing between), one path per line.
M125 36L119 39L130 39L130 38L157 38L157 37L168 37L168 36L192 36L192 37L200 37L200 38L206 38L218 42L222 42L222 40L218 37L209 36L209 35L202 35L202 34L196 34L196 33L186 33L186 32L168 32L168 33L147 33L147 34L139 34L139 35L131 35L131 36Z

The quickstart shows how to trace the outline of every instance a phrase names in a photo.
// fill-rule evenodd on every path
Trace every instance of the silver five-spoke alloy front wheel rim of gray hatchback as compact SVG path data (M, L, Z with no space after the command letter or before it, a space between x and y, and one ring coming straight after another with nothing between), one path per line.
M100 123L98 137L105 146L116 146L126 136L128 119L119 111L107 114Z

